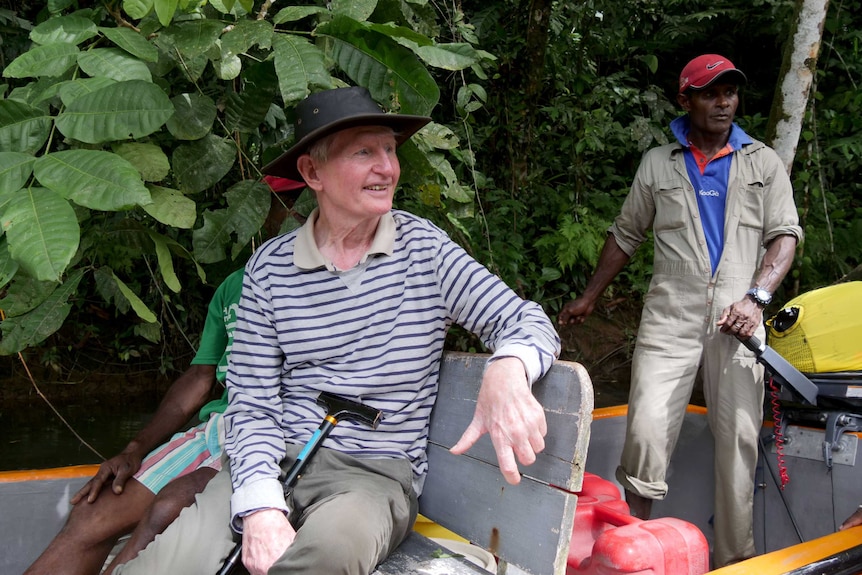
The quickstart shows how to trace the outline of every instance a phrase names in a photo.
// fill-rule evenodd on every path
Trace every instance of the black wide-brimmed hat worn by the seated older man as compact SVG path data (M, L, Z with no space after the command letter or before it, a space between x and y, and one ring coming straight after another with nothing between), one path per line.
M303 181L296 161L325 136L357 126L388 126L395 131L400 146L430 121L427 116L384 112L361 86L315 92L296 105L294 144L264 166L263 173Z

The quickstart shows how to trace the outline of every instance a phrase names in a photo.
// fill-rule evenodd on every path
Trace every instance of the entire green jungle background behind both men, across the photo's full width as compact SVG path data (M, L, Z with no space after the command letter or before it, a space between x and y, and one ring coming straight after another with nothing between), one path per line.
M832 2L792 179L806 242L777 300L862 264L860 2ZM398 207L432 218L553 316L583 289L677 76L742 68L764 139L783 0L73 0L0 8L0 354L98 349L163 366L261 239L259 168L292 106L359 84L435 122L400 155ZM648 285L643 246L609 290ZM856 272L858 273L858 272ZM117 330L116 326L123 328ZM469 348L456 334L452 345ZM181 351L182 350L182 351Z

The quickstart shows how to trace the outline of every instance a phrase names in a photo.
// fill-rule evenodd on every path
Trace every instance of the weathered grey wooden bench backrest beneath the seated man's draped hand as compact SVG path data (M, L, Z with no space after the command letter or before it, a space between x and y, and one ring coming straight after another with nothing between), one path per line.
M509 485L487 436L466 455L448 451L473 417L487 357L444 355L420 511L528 573L563 574L577 503L572 492L581 488L589 442L592 384L579 364L557 362L534 385L548 420L546 447L536 463L521 468L521 483Z

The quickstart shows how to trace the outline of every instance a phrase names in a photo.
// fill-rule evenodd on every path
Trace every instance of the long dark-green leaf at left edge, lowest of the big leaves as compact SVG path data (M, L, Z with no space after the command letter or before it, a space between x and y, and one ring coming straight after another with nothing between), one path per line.
M0 355L10 355L34 346L60 329L72 309L69 298L78 289L83 275L83 270L76 270L39 307L0 324L3 329Z

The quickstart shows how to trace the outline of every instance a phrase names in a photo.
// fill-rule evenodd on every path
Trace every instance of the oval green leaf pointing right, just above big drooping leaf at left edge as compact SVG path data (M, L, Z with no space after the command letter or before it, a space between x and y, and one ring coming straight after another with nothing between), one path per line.
M33 173L46 188L94 210L128 210L152 202L135 166L110 152L53 152L36 160Z

